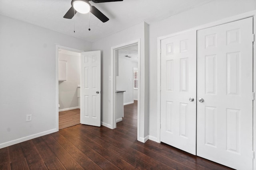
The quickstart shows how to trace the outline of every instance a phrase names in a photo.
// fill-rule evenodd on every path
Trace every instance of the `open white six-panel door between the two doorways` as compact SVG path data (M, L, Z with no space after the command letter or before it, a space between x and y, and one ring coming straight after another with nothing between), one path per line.
M80 121L85 125L100 126L100 69L100 51L81 53Z

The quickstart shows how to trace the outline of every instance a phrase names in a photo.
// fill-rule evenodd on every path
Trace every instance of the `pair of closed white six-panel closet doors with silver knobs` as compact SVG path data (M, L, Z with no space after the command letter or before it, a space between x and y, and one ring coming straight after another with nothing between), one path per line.
M252 169L252 17L161 41L160 139Z

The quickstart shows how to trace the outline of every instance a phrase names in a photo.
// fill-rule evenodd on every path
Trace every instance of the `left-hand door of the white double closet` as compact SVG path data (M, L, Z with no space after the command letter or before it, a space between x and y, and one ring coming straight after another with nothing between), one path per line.
M160 139L196 154L196 31L161 41Z

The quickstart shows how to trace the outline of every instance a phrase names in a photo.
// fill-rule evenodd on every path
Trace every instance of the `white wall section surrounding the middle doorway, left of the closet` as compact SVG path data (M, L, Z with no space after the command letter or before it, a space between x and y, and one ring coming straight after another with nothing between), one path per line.
M145 96L145 98L141 98L140 101L140 120L146 120L145 124L142 123L143 127L142 131L139 132L139 135L146 137L148 135L148 25L146 23L140 23L138 25L134 25L130 28L127 28L123 31L110 35L106 38L98 40L92 43L93 50L101 50L102 51L102 125L110 127L111 119L110 116L110 106L111 106L111 82L109 81L109 77L111 76L111 47L116 45L121 45L124 43L129 43L130 41L134 41L140 39L140 57L141 62L140 74L143 75L144 80L140 82L142 87L140 91L141 96ZM110 77L111 78L111 77ZM143 121L144 122L144 121Z

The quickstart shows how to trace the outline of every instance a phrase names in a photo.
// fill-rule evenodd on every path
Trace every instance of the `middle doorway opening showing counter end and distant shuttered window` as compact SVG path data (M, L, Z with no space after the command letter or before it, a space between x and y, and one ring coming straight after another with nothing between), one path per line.
M116 123L136 125L138 113L138 43L115 50L116 56ZM125 117L132 122L122 122ZM130 119L129 119L130 120ZM118 124L120 124L118 123ZM117 124L117 126L118 126Z

